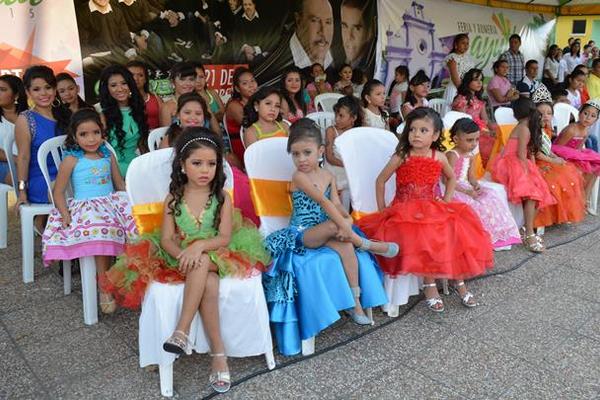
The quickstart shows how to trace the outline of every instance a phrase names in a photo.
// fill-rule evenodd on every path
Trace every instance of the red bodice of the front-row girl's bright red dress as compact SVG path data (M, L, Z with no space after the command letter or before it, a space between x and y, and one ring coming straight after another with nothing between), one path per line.
M442 164L434 158L409 157L396 170L395 202L434 198Z

